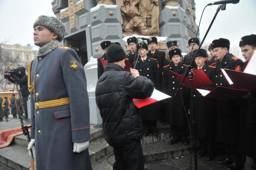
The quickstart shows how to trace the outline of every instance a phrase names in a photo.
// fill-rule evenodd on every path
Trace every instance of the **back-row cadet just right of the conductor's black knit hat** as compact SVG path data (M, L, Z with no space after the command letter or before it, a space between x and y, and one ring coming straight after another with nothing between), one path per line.
M128 58L130 61L130 67L133 68L136 55L138 55L138 53L136 53L136 49L137 49L136 46L138 44L138 39L136 37L130 37L127 39L127 44L129 46L130 52L126 55L126 58Z

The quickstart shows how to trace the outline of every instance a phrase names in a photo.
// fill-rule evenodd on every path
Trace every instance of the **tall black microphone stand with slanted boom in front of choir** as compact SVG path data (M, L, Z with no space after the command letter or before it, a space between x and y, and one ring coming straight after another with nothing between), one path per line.
M216 10L216 13L215 13L215 16L213 16L213 19L212 19L212 22L210 23L207 31L206 31L206 34L204 35L204 38L203 40L201 41L200 43L200 46L198 47L198 49L201 49L203 43L204 43L204 40L206 39L207 35L208 35L208 32L210 31L210 28L212 27L213 25L213 22L215 21L216 19L216 16L218 15L219 11L220 10L226 10L226 4L222 4L222 5L219 5L219 7L217 8ZM199 29L199 28L198 28ZM198 52L198 50L197 50ZM197 56L197 52L195 52L194 56L192 57L192 60L190 61L190 64L188 65L188 67L186 67L185 71L184 71L184 76L183 76L183 79L181 80L180 82L180 85L178 86L177 88L177 91L175 91L175 94L174 96L177 95L178 91L180 90L185 78L187 77L187 75L190 73L190 67L192 65L192 62L195 60L195 56ZM190 76L189 76L189 80L190 80L190 97L192 97L192 101L191 101L191 106L192 106L192 124L193 124L193 127L194 127L194 157L195 157L195 170L198 170L198 165L197 165L197 123L196 123L196 120L195 120L195 114L194 114L194 102L193 102L193 85L192 85L192 81L193 81L193 74L190 73Z

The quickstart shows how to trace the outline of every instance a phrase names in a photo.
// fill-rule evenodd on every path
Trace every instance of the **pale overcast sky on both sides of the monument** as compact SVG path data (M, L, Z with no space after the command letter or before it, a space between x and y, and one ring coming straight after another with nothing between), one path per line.
M32 25L37 16L54 16L52 0L0 0L0 43L22 45L33 41ZM197 24L206 4L212 0L195 0ZM200 38L203 36L212 20L218 5L206 8L200 26ZM227 10L220 11L213 23L205 43L216 38L228 38L231 45L238 46L243 35L256 34L256 0L240 0L239 4L228 4Z

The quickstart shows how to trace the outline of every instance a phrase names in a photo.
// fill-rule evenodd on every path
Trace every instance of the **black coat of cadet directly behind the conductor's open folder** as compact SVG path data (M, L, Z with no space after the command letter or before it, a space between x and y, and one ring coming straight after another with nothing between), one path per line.
M139 76L145 76L154 83L154 87L160 88L160 73L156 59L147 57L145 61L139 57L136 64L136 69L139 71ZM159 120L159 102L144 106L139 109L142 120Z

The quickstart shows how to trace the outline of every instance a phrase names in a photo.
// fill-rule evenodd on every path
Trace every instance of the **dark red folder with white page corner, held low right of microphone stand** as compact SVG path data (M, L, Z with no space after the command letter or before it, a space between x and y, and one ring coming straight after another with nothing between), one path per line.
M210 97L215 99L235 99L243 97L249 93L248 90L240 90L236 88L228 88L221 86L214 88L212 91L198 88L197 91L204 97Z

